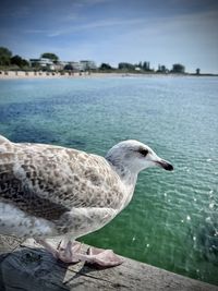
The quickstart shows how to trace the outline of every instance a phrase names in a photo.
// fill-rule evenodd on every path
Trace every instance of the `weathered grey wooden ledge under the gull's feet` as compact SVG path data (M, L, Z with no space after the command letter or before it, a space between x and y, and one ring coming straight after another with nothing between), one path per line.
M4 246L3 243L4 242ZM121 266L97 269L83 263L65 265L28 241L0 238L1 291L96 291L96 290L169 290L218 291L218 287L185 278L149 265L124 258ZM53 244L57 242L52 241ZM3 247L2 247L3 246ZM84 245L84 251L87 250Z

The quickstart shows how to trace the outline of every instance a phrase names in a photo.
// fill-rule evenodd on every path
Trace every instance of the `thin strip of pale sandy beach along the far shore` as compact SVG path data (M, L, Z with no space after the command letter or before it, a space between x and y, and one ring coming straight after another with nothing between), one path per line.
M128 76L218 76L218 74L162 74L162 73L116 73L116 72L34 72L34 71L0 71L0 80L19 80L19 78L74 78L74 77L128 77Z

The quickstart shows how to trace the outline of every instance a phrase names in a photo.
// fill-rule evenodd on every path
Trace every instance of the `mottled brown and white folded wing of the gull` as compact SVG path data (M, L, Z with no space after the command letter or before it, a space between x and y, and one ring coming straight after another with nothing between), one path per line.
M83 151L10 143L0 153L0 199L51 220L73 207L116 208L114 193L121 193L110 171L102 158Z

